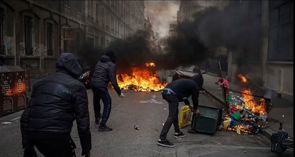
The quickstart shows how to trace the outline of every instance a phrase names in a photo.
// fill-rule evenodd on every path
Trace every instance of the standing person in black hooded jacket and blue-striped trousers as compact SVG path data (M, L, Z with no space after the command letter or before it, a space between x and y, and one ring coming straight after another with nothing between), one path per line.
M125 97L117 82L115 57L114 50L107 50L105 55L101 56L100 62L96 64L91 78L95 123L99 124L99 120L102 118L98 131L112 131L112 128L106 126L112 108L112 99L107 89L108 83L111 81L119 97ZM104 103L102 115L100 113L100 99Z

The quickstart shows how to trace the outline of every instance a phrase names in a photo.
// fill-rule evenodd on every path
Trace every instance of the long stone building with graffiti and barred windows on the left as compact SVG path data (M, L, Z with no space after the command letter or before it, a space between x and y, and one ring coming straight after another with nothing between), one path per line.
M63 52L88 41L101 47L143 28L144 1L0 1L0 57L30 70L31 78L55 71Z

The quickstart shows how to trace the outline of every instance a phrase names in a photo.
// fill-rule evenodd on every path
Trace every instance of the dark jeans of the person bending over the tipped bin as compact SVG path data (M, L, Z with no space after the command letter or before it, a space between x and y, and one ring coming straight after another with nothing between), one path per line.
M166 91L163 91L162 93L163 99L165 99L169 104L169 115L168 118L162 128L160 139L165 140L167 138L167 133L171 127L171 125L174 125L174 131L179 132L179 126L178 126L178 97L173 94L167 94Z

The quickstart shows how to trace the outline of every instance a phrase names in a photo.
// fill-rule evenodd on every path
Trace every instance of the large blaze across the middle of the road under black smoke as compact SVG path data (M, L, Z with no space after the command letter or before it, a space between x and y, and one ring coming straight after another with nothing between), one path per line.
M146 63L147 67L155 67L155 63ZM132 68L132 74L117 75L119 87L134 91L159 91L168 83L161 83L156 71L149 69Z

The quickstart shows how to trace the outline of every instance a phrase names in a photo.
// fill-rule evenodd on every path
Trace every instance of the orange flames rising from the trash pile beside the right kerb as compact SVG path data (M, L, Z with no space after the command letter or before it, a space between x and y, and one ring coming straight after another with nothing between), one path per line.
M242 82L246 83L247 79L245 76L243 76L242 74L238 75L239 78L242 79ZM245 106L249 107L250 109L252 109L252 111L254 113L259 113L259 114L266 114L266 102L264 98L254 98L254 96L252 95L252 92L250 91L250 89L243 89L241 91L242 93L242 97L245 98ZM237 106L238 109L242 109L242 106Z

